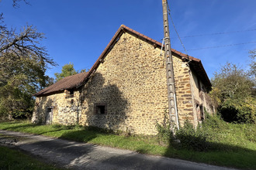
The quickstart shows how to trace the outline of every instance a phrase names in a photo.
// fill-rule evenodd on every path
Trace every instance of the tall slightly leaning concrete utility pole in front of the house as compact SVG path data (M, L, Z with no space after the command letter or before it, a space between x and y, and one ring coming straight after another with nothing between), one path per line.
M170 116L171 130L174 131L175 127L179 129L178 124L178 111L175 93L175 76L171 55L171 40L168 22L168 2L162 0L163 5L163 18L164 18L164 55L166 61L166 76L168 87L168 113Z

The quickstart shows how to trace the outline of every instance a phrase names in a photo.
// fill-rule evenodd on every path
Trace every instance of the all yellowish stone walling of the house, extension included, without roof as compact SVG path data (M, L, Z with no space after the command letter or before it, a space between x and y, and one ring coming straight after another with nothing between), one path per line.
M51 107L53 123L157 134L156 121L163 122L168 110L165 61L160 54L161 49L123 33L74 96L63 92L37 97L33 121L45 122ZM188 118L195 123L189 66L178 56L173 61L179 122Z

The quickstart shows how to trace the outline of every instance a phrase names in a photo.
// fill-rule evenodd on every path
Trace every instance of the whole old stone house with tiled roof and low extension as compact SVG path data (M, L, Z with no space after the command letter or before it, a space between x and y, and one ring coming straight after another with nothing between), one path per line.
M212 110L211 83L200 59L175 49L172 56L178 121L196 126L204 110ZM156 121L168 110L167 94L161 42L122 25L88 73L67 76L35 94L32 121L156 134Z

